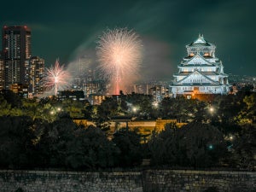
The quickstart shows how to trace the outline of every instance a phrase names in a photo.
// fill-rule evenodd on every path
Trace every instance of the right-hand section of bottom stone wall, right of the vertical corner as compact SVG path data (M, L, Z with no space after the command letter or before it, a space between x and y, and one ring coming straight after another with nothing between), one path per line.
M256 191L256 172L148 170L143 173L143 191L147 192L201 192L209 188L219 192Z

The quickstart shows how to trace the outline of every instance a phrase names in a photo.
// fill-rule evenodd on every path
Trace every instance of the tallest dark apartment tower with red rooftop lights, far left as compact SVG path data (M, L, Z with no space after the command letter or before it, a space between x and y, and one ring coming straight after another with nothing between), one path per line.
M31 57L31 30L27 26L3 26L4 88L28 84L26 67Z

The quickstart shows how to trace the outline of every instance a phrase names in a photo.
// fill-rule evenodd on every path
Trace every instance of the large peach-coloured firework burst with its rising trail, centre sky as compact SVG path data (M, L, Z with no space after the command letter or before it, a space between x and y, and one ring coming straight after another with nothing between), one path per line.
M137 34L126 28L107 30L98 41L96 55L100 70L112 84L113 95L128 87L137 79L142 60L142 44Z

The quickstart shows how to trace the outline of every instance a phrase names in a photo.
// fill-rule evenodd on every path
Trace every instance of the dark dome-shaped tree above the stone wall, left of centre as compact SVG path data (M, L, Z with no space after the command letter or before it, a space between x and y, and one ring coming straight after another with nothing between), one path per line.
M73 169L97 169L117 164L119 148L108 140L104 132L94 126L79 128L68 143L66 164Z

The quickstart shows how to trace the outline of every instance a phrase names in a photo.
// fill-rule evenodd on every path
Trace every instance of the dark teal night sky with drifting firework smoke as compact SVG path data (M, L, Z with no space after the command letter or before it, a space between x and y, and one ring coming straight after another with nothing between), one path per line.
M13 0L1 2L0 25L29 26L32 55L47 67L80 56L96 66L102 32L128 27L143 42L143 79L172 80L199 33L217 46L224 73L255 76L255 7L253 0Z

